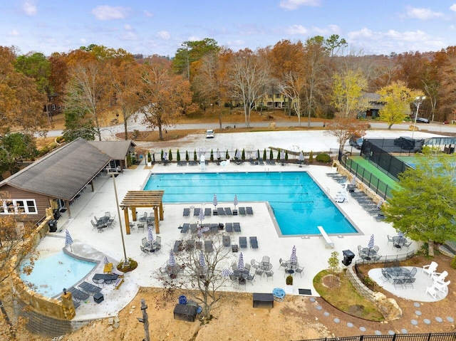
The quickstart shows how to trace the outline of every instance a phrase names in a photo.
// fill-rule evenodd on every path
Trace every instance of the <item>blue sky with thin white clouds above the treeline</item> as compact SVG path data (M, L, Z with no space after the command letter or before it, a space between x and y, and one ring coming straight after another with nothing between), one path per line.
M274 46L338 34L365 54L456 45L456 0L0 0L0 46L68 52L91 43L174 56L183 41Z

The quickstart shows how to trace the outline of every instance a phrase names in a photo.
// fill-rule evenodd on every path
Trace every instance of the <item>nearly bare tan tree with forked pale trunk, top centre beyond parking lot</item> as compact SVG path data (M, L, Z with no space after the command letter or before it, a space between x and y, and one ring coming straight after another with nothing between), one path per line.
M237 52L229 68L229 84L234 98L244 106L245 125L249 127L255 102L264 96L269 84L266 58L249 49Z

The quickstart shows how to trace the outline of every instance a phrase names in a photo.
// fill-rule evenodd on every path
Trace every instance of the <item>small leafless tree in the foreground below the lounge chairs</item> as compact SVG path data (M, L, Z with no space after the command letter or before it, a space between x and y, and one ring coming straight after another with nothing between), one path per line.
M232 250L224 247L220 239L218 233L204 234L204 241L212 243L212 251L195 248L197 242L204 245L204 241L198 238L182 241L181 250L175 253L177 268L181 269L176 278L170 278L166 273L159 274L165 288L188 290L188 295L202 305L202 314L207 319L211 318L212 306L221 298L219 289L231 282L229 277L222 276L222 270L229 268L234 261ZM204 266L200 263L201 254Z

